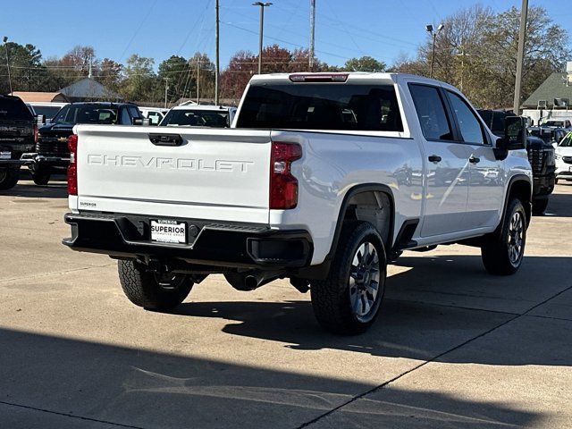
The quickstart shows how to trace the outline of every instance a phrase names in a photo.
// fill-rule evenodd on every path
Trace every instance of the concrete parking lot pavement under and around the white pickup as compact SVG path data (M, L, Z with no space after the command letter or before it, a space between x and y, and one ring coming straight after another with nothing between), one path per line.
M516 275L474 248L407 252L358 337L322 332L287 282L132 306L113 260L60 244L53 183L0 196L0 427L572 427L572 182Z

